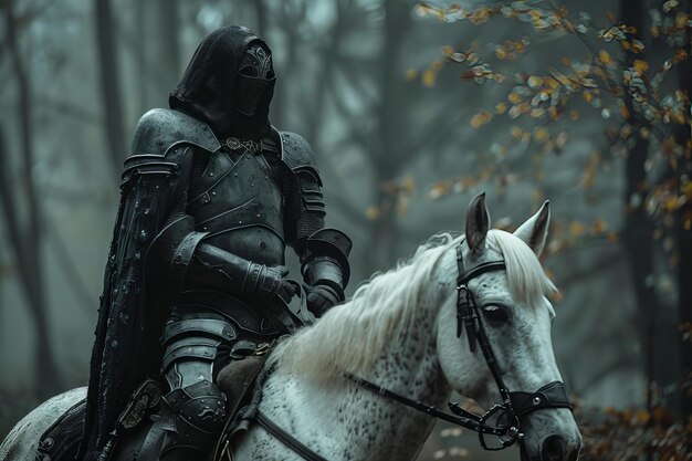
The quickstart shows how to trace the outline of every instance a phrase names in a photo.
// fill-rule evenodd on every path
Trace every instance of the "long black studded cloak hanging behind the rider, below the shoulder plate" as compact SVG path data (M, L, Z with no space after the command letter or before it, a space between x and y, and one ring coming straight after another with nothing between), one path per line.
M85 431L77 457L84 455L84 460L98 458L132 392L147 377L158 379L159 375L165 291L156 286L154 277L145 282L145 261L151 241L179 200L178 172L165 166L145 171L157 169L156 163L128 168L129 161L125 164L92 350Z

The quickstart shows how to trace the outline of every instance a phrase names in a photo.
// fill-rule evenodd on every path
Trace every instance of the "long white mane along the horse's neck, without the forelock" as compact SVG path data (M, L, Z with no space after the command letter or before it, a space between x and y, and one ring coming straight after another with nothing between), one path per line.
M458 241L449 233L436 234L408 261L373 275L348 302L281 342L270 365L316 377L369 369L395 338L406 340L417 312L434 301L430 293L439 291L430 290L427 282L445 250Z

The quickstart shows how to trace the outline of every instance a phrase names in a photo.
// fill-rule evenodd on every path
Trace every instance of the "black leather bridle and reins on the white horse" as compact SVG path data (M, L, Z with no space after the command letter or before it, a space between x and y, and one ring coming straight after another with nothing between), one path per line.
M497 360L495 359L495 354L493 353L493 348L491 347L487 335L485 334L485 328L481 322L478 304L468 287L468 283L472 279L487 272L505 271L506 265L504 261L491 261L465 270L462 258L462 244L463 240L457 247L457 266L459 270L459 275L457 276L457 337L461 337L462 332L465 331L471 352L475 352L478 346L481 347L485 363L487 364L487 367L495 379L495 384L497 385L497 389L500 390L502 404L494 405L484 415L480 416L464 410L459 406L459 404L450 402L448 404L451 411L450 413L422 401L405 397L366 379L358 378L349 374L344 376L364 389L384 398L397 401L417 411L424 412L431 417L443 419L452 425L461 426L476 432L479 434L481 447L485 450L503 450L523 439L524 433L522 432L521 423L522 417L533 411L546 408L568 408L569 410L573 410L573 407L569 402L569 397L567 396L567 390L565 389L565 384L563 381L556 380L548 383L535 392L510 391L505 386L500 373ZM497 422L489 423L491 420L496 420ZM274 425L265 415L259 413L256 421L269 433L281 440L284 444L307 461L326 461L325 458L322 458L319 454L315 453L313 450L297 441L294 437ZM487 436L497 437L500 441L499 446L489 446L486 440Z

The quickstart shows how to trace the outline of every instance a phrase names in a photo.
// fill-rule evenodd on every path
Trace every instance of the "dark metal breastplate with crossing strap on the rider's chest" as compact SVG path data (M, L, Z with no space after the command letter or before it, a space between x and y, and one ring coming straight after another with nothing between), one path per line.
M284 263L284 198L262 155L210 154L190 197L205 241L253 262Z

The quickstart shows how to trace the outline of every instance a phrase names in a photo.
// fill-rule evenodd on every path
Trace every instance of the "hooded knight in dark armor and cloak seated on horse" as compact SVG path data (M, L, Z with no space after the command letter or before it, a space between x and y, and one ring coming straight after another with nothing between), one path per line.
M212 32L169 98L139 121L105 271L80 459L112 449L147 378L161 416L139 459L203 459L229 417L220 369L287 331L285 247L307 307L344 300L350 240L325 228L322 180L300 135L270 125L264 41ZM154 454L153 454L154 453ZM103 458L102 458L103 459Z

